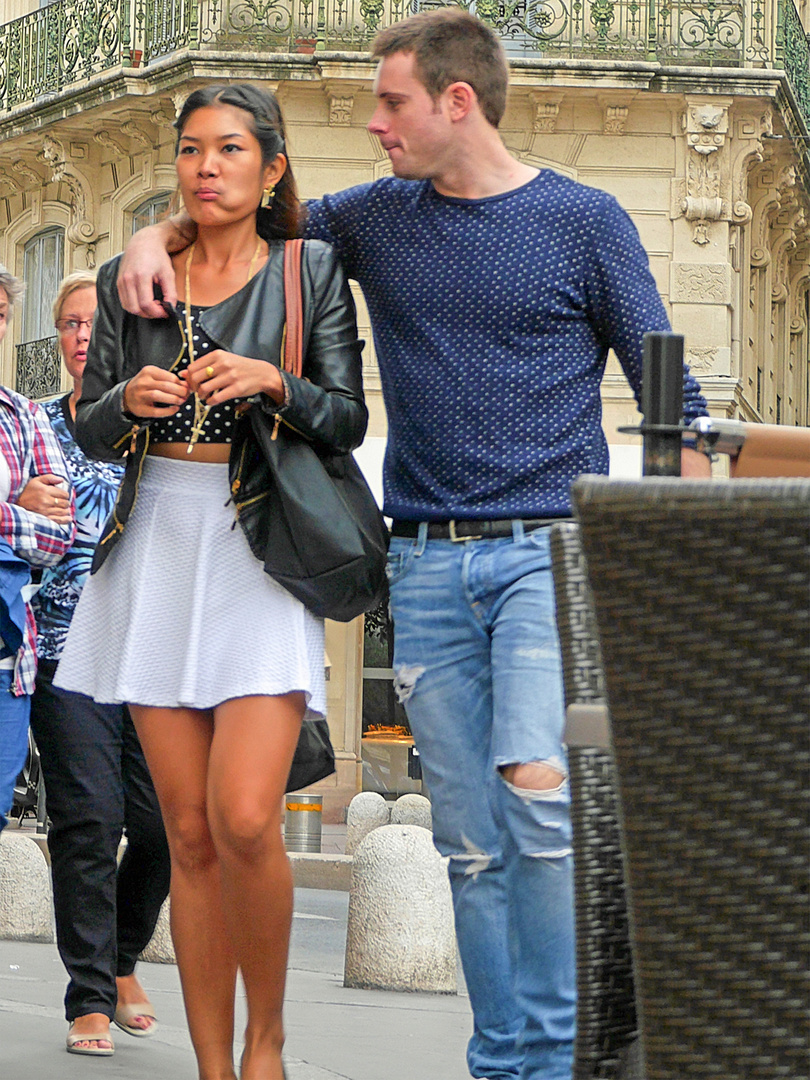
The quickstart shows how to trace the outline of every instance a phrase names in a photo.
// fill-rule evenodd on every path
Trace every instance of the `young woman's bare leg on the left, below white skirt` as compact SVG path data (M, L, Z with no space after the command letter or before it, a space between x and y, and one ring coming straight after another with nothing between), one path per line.
M237 961L206 808L213 716L141 705L131 712L172 853L172 940L200 1080L235 1080Z

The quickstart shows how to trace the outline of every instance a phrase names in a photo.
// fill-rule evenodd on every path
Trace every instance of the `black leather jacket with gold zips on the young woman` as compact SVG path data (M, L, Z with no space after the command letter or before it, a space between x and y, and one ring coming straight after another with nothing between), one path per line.
M76 416L77 442L89 457L103 461L126 458L124 478L96 548L93 571L107 558L124 529L149 448L149 420L133 423L132 417L124 414L124 387L145 365L168 369L183 352L177 312L174 319L151 320L123 310L116 287L120 260L119 255L98 271L98 308ZM281 356L283 262L283 244L271 244L265 267L238 293L201 315L200 325L213 346L270 363ZM278 417L326 453L348 453L363 442L368 422L362 387L363 343L357 340L349 285L328 244L318 240L305 243L301 288L302 378L284 373L284 405L257 394L252 407ZM232 451L231 478L237 468ZM238 510L238 501L235 505ZM249 517L240 518L246 531L251 522Z

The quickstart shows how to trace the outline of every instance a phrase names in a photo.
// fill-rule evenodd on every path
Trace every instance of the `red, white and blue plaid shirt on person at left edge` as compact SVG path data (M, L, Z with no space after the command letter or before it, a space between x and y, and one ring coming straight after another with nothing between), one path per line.
M11 473L8 502L0 502L0 536L15 555L31 566L58 563L73 541L76 525L57 525L50 517L16 505L32 476L52 473L62 476L70 490L70 511L75 498L65 456L45 413L27 397L0 387L0 455ZM37 677L37 624L30 604L26 604L26 630L14 664L13 693L33 692Z

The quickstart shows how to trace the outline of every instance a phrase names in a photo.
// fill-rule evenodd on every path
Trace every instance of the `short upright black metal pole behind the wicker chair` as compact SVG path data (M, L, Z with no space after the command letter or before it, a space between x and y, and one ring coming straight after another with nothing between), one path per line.
M654 332L644 335L642 373L644 426L644 475L680 475L680 432L684 415L684 338L680 334Z

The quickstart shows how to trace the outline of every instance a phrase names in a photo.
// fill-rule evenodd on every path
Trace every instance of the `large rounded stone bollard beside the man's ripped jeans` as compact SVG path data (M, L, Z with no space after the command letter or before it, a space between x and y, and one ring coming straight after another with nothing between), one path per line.
M343 986L457 993L447 868L418 825L383 825L354 852Z

